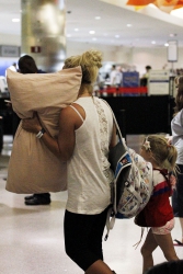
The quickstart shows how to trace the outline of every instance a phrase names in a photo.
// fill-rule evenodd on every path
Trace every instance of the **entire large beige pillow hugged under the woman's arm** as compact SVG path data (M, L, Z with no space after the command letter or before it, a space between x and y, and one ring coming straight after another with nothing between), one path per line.
M36 111L43 127L56 137L61 107L78 96L81 68L34 75L8 70L7 81L14 112L25 118ZM27 194L67 189L66 163L61 163L35 134L23 130L21 124L13 141L5 189Z

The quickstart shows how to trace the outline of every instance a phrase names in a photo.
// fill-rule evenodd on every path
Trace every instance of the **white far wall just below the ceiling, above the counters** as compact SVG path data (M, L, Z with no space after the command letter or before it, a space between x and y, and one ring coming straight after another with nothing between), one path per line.
M152 69L172 68L172 62L168 62L167 47L155 48L135 48L135 47L112 47L98 44L84 44L67 42L67 56L81 54L84 50L95 48L103 53L104 62L128 64L135 66L140 75L145 73L145 67L150 65ZM183 68L183 48L178 49L178 62L173 64L173 68Z

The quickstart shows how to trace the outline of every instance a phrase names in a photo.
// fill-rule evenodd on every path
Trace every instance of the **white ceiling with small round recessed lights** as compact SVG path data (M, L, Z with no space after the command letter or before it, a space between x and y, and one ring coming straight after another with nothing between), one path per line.
M67 38L127 47L163 47L168 41L178 39L183 47L183 15L178 19L151 7L135 12L126 1L65 0ZM95 20L95 16L101 19ZM0 18L1 37L3 34L21 36L21 22L12 22L13 18L21 20L21 0L0 0ZM90 31L95 33L90 34Z

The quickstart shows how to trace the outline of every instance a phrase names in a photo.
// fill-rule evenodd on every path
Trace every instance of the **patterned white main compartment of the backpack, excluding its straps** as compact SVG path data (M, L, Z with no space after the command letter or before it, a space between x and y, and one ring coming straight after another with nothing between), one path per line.
M114 180L115 189L115 199L113 203L113 209L116 218L133 218L135 217L148 203L151 192L152 192L152 165L150 162L145 161L145 159L136 153L133 149L128 149L126 155L122 158L128 159L130 169L128 170L127 178L124 178L124 190L123 193L117 193L117 175L122 170L117 169ZM121 162L119 160L119 165ZM117 196L119 198L117 199Z

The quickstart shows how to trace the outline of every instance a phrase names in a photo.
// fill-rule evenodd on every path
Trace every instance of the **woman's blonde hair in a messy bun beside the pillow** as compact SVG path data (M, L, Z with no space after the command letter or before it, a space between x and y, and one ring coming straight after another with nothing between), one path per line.
M91 49L82 55L71 56L65 60L64 69L78 66L82 69L81 85L92 92L92 83L96 81L99 69L102 67L102 53Z

